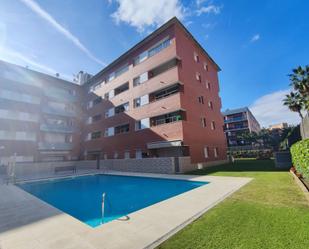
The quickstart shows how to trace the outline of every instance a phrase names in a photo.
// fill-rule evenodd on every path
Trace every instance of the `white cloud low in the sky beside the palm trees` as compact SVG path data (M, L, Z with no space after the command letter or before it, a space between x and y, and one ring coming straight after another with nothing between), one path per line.
M298 114L291 112L282 102L289 92L290 89L286 89L266 94L255 100L249 107L261 126L268 127L282 122L299 124L300 118Z

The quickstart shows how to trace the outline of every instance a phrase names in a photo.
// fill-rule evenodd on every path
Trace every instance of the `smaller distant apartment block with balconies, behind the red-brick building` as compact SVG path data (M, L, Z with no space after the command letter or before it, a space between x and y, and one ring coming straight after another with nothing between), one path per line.
M222 115L224 117L224 132L228 146L245 145L245 142L240 139L242 133L258 133L261 130L259 122L248 107L227 109Z

